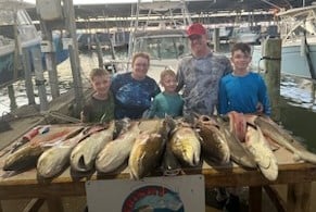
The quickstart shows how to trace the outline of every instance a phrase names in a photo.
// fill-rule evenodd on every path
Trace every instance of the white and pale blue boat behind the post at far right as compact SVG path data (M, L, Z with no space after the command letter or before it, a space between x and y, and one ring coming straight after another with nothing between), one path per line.
M277 14L282 39L281 74L316 79L316 5L290 9ZM252 65L265 70L261 46L253 47Z

